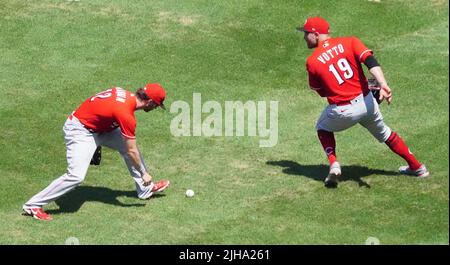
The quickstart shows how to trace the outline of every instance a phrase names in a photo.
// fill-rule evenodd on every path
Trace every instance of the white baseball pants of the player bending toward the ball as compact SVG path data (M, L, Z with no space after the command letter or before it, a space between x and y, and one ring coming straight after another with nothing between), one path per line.
M34 195L24 204L23 208L42 207L80 185L86 177L91 158L97 146L107 146L119 151L134 179L138 197L147 199L152 196L153 183L149 186L144 186L141 174L133 167L127 155L125 141L122 138L120 128L107 133L92 133L75 116L71 116L72 118L68 118L63 127L67 149L67 173ZM141 161L146 168L142 156Z

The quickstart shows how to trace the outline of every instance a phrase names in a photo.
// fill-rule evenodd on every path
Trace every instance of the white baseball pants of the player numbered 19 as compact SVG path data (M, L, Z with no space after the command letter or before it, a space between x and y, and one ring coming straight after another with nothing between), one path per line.
M370 92L366 96L360 94L348 105L328 105L317 120L316 129L339 132L356 123L364 126L379 142L387 141L392 132L384 123L378 103Z

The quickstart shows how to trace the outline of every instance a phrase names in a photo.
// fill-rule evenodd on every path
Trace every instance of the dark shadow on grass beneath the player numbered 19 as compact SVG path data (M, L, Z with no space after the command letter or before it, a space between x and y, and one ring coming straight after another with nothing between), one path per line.
M301 165L291 160L267 161L266 164L271 166L282 167L282 172L289 175L305 176L310 179L323 182L328 174L329 166L327 165ZM363 166L342 166L342 176L340 182L354 181L360 187L370 188L370 185L362 178L370 175L387 175L394 176L400 173L395 171L386 171L381 169L371 169Z

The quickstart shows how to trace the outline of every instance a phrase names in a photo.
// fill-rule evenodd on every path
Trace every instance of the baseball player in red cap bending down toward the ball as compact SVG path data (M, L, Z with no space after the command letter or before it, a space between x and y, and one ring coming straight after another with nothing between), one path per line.
M67 172L23 205L26 214L39 220L52 220L42 207L80 185L91 158L99 146L119 151L136 184L140 199L150 198L166 189L170 182L153 182L136 144L137 110L164 108L165 90L159 84L147 84L135 94L120 87L100 92L84 101L69 115L63 131L67 148Z

